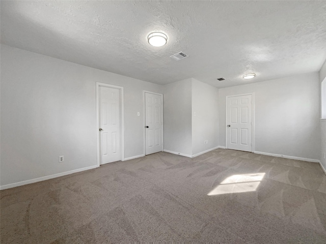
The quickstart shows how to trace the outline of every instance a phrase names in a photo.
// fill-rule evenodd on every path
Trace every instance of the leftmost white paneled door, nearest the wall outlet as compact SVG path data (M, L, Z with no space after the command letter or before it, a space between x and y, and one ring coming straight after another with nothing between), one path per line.
M99 87L100 164L121 160L120 89Z

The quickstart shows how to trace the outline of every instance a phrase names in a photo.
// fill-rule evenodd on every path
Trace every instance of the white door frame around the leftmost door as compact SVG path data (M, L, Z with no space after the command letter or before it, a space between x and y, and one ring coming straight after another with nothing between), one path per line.
M99 135L99 115L100 115L100 86L107 88L115 88L120 90L120 151L121 161L124 161L124 90L123 86L111 85L101 82L96 82L96 141L97 141L97 167L100 167L100 135Z

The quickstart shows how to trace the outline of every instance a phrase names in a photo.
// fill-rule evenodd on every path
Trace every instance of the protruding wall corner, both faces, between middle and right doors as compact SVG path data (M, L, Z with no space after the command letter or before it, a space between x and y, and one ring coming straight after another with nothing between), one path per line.
M219 146L218 96L218 88L194 78L165 85L165 150L192 157Z

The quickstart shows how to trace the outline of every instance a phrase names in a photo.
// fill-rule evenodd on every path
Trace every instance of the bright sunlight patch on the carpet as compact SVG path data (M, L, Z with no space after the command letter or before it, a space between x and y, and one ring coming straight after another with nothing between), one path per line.
M207 196L256 191L265 173L234 174L227 177Z

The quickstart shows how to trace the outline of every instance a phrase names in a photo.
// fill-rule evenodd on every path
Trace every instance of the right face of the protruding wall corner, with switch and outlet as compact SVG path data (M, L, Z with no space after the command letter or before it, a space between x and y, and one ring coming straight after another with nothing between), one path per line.
M218 88L192 79L193 155L219 146L218 97Z

